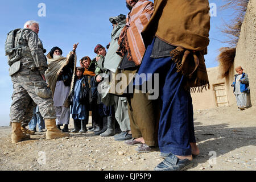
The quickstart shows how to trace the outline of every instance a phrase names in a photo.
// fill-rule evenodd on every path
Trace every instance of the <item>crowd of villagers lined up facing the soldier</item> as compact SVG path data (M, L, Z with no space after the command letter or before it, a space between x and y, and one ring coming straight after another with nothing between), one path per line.
M209 87L204 60L209 2L126 0L126 5L130 13L109 19L111 41L106 48L101 44L94 48L94 59L84 56L76 67L76 54L63 57L61 48L53 47L47 55L49 73L56 69L56 60L57 70L61 68L49 81L57 126L69 131L72 114L71 133L90 131L127 145L139 144L137 152L160 150L165 159L156 170L187 169L199 154L190 92ZM127 77L118 80L118 73ZM142 73L146 77L135 83ZM150 74L158 74L158 80ZM157 99L149 99L154 94L149 90L127 89L142 88L149 81L158 81ZM111 89L117 84L122 85L119 92ZM106 92L99 92L102 88ZM89 111L92 127L87 129Z

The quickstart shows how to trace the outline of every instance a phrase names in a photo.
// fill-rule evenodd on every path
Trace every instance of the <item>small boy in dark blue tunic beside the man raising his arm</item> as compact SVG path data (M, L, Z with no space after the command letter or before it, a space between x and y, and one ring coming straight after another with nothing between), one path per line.
M71 133L86 133L89 121L89 84L88 78L83 75L84 68L76 68L75 88L72 91L71 114L74 120L74 130Z

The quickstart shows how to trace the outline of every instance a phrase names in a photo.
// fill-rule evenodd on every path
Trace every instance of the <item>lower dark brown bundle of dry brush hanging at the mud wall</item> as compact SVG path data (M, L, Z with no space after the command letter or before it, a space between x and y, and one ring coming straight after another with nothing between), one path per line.
M222 47L220 48L220 55L218 55L218 62L220 68L220 77L228 77L229 70L234 63L236 56L236 48Z

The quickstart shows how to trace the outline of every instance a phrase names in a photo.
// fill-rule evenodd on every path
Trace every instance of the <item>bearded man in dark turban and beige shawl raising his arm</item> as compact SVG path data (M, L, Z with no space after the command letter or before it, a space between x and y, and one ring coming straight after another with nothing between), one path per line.
M68 97L72 92L75 78L77 45L78 43L73 45L73 50L67 57L62 56L63 52L59 47L53 47L47 55L46 81L52 91L57 127L60 129L60 125L63 124L63 132L68 132L70 117Z

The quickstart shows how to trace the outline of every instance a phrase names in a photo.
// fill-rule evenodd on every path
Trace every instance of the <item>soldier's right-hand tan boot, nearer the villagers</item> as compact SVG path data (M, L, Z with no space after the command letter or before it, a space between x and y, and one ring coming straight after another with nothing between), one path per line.
M46 123L46 139L63 138L68 137L69 133L63 133L56 126L55 119L44 119Z

